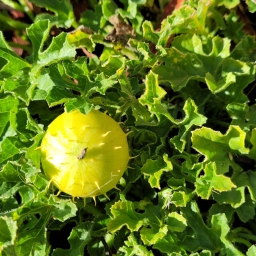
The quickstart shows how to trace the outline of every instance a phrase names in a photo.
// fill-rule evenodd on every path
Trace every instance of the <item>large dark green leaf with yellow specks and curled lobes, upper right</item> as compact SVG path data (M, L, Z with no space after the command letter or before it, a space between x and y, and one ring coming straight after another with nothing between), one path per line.
M153 68L153 72L159 74L159 81L172 84L176 91L186 86L190 79L196 79L205 81L213 93L218 93L236 83L237 76L252 74L247 63L227 59L230 55L227 38L216 36L204 44L196 35L177 36L173 47L166 49L166 56L160 58L163 64Z

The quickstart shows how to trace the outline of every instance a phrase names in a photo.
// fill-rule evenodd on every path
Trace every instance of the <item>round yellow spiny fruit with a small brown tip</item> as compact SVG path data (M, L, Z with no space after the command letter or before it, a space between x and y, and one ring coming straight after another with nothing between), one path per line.
M51 182L60 191L84 198L106 195L115 188L129 161L127 134L113 118L97 110L58 116L40 149Z

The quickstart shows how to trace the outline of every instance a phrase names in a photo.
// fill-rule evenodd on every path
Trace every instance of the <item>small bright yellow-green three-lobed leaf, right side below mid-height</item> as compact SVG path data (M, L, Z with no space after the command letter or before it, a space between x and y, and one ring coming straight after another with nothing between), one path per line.
M228 191L236 188L230 178L216 174L216 164L208 163L204 168L205 175L196 179L196 193L203 199L209 199L213 190Z

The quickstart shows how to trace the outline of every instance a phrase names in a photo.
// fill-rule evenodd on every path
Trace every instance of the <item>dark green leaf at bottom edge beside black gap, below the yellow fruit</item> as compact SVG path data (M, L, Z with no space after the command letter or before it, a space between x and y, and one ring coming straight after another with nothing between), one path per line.
M72 232L68 237L68 242L70 243L71 248L69 250L57 248L53 251L52 255L61 256L64 253L68 256L83 256L84 246L86 246L86 244L91 240L92 227L93 223L90 223L89 221L77 225L77 227L72 229Z

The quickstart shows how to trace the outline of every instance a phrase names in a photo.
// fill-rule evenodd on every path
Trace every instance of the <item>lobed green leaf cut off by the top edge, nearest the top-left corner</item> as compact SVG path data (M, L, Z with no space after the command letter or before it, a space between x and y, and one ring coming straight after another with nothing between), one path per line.
M72 9L72 5L68 0L31 0L31 3L36 4L36 6L46 8L51 12L55 13L55 17L50 14L42 13L37 15L37 20L51 20L51 26L70 28L70 26L76 26L75 17Z

